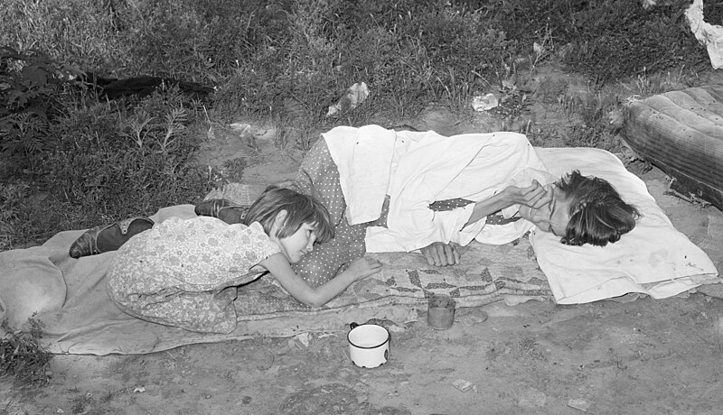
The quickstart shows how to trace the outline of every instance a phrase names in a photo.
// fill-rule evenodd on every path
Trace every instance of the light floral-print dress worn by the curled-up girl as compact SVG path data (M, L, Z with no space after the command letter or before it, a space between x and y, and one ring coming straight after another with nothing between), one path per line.
M203 333L236 327L236 288L278 254L263 227L171 217L132 237L108 268L108 295L127 314Z

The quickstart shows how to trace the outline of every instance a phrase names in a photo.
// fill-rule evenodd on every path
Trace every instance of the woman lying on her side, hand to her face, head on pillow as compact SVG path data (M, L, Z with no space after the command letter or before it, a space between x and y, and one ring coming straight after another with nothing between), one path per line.
M350 171L355 154L364 158ZM389 184L371 195L382 195L383 204L367 215L375 205L367 194L352 194L355 180L369 187L389 161ZM562 244L604 246L630 232L639 217L606 180L578 171L562 179L549 175L527 138L513 133L444 137L337 127L306 154L296 183L315 192L335 225L333 240L295 265L311 285L366 252L419 250L430 265L451 265L459 262L457 244L505 244L535 226ZM362 222L369 217L377 218Z

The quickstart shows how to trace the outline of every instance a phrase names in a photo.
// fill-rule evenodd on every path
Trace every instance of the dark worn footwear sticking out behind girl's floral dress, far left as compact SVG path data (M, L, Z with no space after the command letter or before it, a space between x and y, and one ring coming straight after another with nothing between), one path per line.
M70 257L80 258L116 251L131 236L152 228L154 222L147 217L131 217L112 225L91 227L70 245Z

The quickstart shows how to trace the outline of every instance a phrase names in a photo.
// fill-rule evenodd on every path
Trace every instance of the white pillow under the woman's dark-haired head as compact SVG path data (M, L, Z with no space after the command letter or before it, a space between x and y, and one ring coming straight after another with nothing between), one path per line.
M558 236L533 231L531 244L559 304L603 300L628 292L662 299L701 283L720 282L709 256L672 226L643 180L625 170L615 155L593 148L536 150L555 176L577 169L586 176L608 180L643 215L633 231L605 247L564 245Z

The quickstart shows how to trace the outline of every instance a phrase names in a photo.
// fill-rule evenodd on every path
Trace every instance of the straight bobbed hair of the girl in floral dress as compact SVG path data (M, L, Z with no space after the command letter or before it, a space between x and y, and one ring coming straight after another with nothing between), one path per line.
M286 220L279 227L277 238L294 235L303 224L315 226L316 240L326 242L333 238L333 226L329 212L318 200L292 189L268 186L249 208L243 219L245 225L258 222L271 236L278 212L286 210Z

